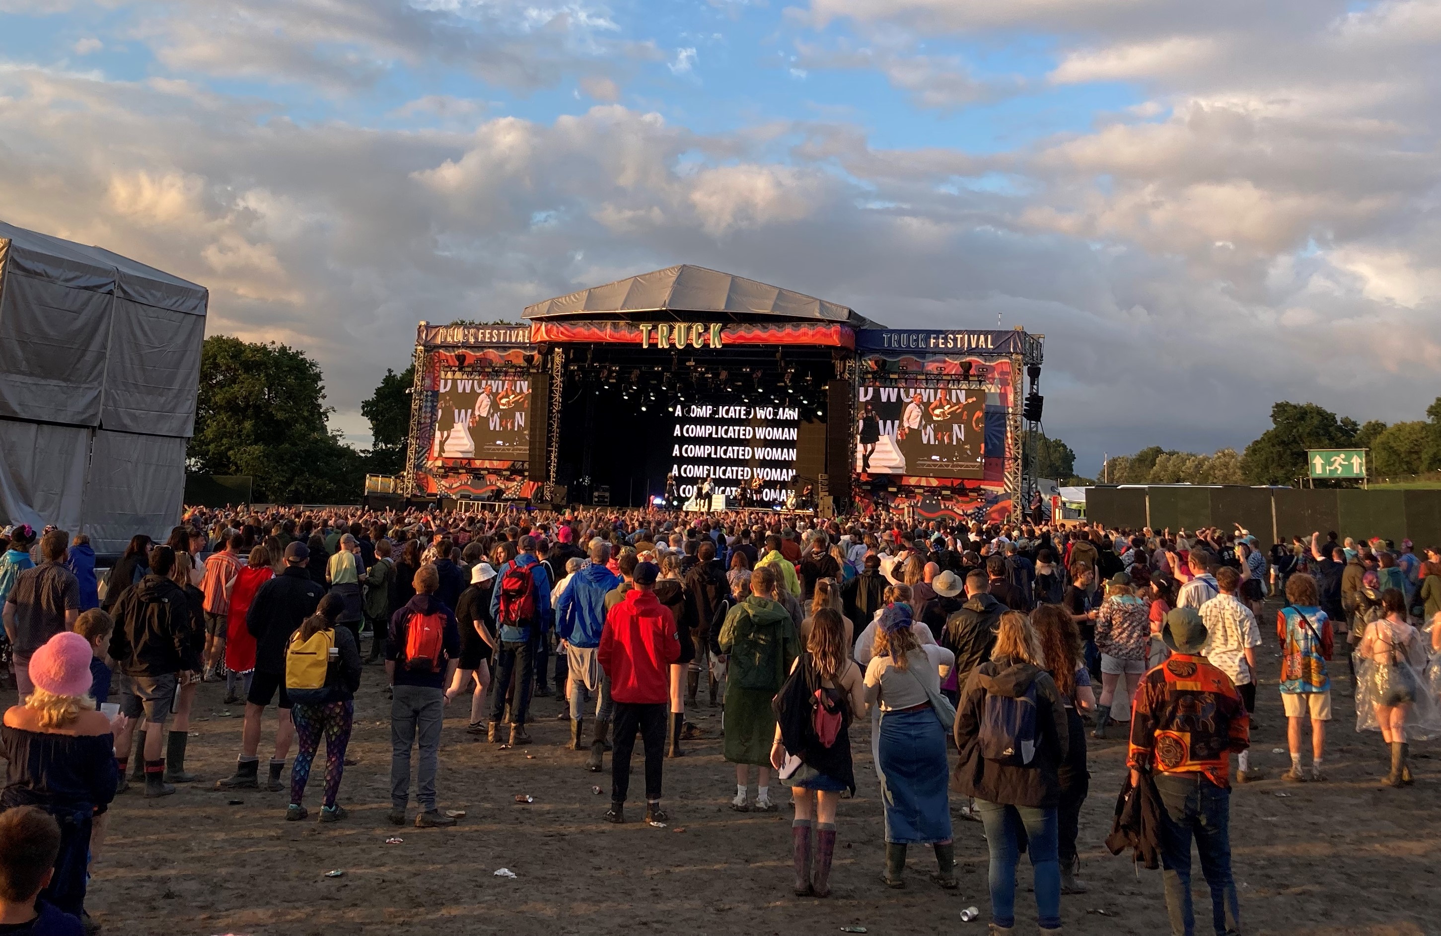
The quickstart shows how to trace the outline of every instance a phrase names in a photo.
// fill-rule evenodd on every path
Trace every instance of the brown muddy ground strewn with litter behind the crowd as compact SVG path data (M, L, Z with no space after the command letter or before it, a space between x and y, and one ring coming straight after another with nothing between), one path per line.
M1265 628L1264 628L1265 631ZM1274 631L1270 631L1274 634ZM1262 655L1259 730L1254 763L1270 772L1236 788L1232 845L1246 933L1421 935L1441 932L1441 762L1438 749L1414 744L1417 785L1383 789L1383 750L1375 733L1356 734L1344 664L1337 680L1324 785L1280 780L1288 765L1275 688L1278 655ZM200 688L190 740L192 770L206 782L160 801L117 799L107 854L91 881L88 906L105 932L130 935L330 935L330 933L836 933L865 926L876 936L983 933L987 916L986 842L981 827L957 818L960 891L924 880L929 854L915 854L905 890L888 890L882 818L870 769L869 726L853 732L857 795L840 811L830 899L797 899L790 881L790 809L735 814L731 765L720 757L718 710L692 713L708 737L687 756L666 762L666 829L601 821L607 772L588 773L585 756L563 747L568 726L553 720L556 698L539 698L525 749L500 750L464 733L468 706L457 701L441 747L442 809L467 816L450 829L396 829L389 809L388 704L383 672L367 667L356 700L352 756L342 802L350 818L318 825L318 769L311 776L305 822L284 822L287 793L213 791L233 768L241 707L223 707L223 685ZM229 717L223 713L229 711ZM274 723L267 724L265 743ZM262 744L262 752L267 749ZM953 755L954 756L954 755ZM1441 757L1441 753L1435 755ZM1081 822L1082 877L1091 893L1062 899L1068 933L1166 933L1159 871L1133 868L1102 840L1121 783L1124 743L1091 742L1091 799ZM1310 757L1307 756L1307 762ZM318 768L318 765L317 765ZM262 763L264 770L264 763ZM640 763L633 801L643 789ZM602 788L601 795L592 786ZM784 796L780 788L775 792ZM530 805L514 796L527 793ZM1284 796L1282 796L1284 793ZM228 805L242 799L241 805ZM953 811L960 802L953 801ZM414 815L414 804L412 804ZM388 845L399 835L403 844ZM510 868L514 880L496 877ZM339 878L326 871L343 870ZM1030 880L1020 868L1020 884ZM1196 877L1199 933L1209 932L1209 897ZM968 906L981 919L963 923ZM1017 901L1017 932L1035 932L1029 893Z

